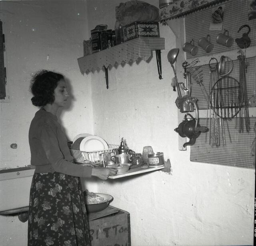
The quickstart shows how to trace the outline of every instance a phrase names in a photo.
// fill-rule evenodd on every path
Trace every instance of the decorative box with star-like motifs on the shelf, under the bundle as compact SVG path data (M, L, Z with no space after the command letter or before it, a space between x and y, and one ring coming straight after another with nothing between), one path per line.
M156 37L159 38L158 22L133 22L123 27L124 41L138 37Z

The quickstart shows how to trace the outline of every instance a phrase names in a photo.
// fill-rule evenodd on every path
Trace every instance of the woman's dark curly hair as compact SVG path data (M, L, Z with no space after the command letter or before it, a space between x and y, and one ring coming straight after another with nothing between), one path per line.
M47 70L36 73L30 85L30 91L34 95L31 98L33 105L42 107L48 103L52 104L55 100L54 89L58 86L60 79L64 79L60 73Z

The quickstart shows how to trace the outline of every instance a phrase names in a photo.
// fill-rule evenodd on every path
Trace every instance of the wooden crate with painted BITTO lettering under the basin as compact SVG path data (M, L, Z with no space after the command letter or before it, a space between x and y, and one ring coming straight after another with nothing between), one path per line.
M124 210L89 221L92 246L130 246L130 214Z

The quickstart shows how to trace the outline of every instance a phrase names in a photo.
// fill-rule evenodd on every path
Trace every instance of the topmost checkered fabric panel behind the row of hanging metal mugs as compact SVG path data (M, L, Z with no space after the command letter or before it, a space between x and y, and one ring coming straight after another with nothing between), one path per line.
M222 5L222 4L221 4ZM250 33L248 34L251 44L250 46L256 45L256 20L248 20L248 5L246 0L230 0L224 2L224 20L222 22L222 30L209 30L210 20L212 14L212 8L206 10L198 11L196 13L190 14L185 18L185 29L186 29L186 42L194 40L196 46L200 38L206 37L207 34L210 35L210 42L214 45L212 52L206 53L202 48L198 47L197 57L201 56L211 56L216 53L227 52L231 50L238 49L236 42L230 48L222 46L216 43L216 37L218 34L223 33L224 30L228 30L229 36L234 38L241 38L243 33L247 33L247 28L242 28L238 33L240 26L248 25L250 26ZM193 58L187 53L187 58Z

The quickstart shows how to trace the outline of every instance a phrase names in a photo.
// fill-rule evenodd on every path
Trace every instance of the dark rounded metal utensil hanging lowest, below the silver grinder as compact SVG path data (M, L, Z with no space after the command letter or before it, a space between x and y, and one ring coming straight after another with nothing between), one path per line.
M187 115L191 117L190 120L187 119ZM206 132L208 130L208 127L201 127L198 121L192 115L190 115L190 113L187 113L184 117L184 121L182 121L180 125L174 129L174 131L179 133L180 137L189 138L189 141L184 143L183 147L186 147L187 145L193 145L201 132Z

